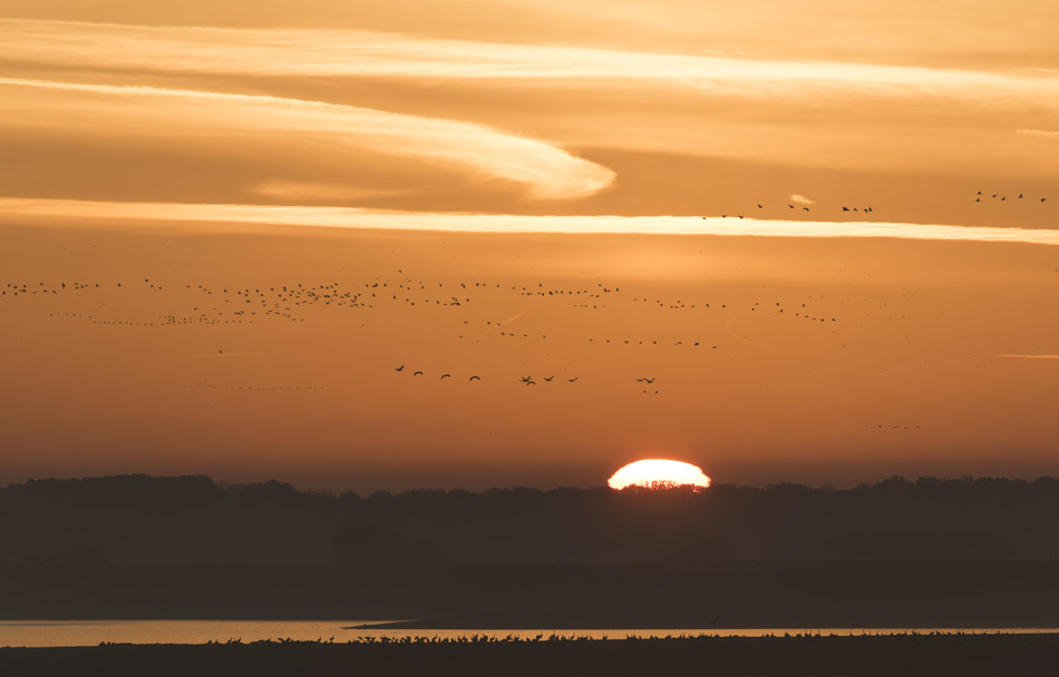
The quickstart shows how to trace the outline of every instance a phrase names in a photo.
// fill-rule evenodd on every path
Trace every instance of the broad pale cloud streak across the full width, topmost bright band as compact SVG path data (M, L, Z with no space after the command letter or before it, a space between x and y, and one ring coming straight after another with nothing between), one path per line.
M431 39L358 30L147 27L0 20L0 59L127 71L428 79L650 82L744 97L844 90L1053 104L1059 78L1018 72L829 61L779 61L551 45ZM1034 73L1034 75L1030 75Z

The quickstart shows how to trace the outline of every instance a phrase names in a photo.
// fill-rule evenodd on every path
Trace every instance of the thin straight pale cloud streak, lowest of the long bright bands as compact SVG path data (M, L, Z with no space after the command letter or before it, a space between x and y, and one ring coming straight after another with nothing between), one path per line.
M897 238L1059 245L1059 229L998 228L882 222L791 222L698 216L522 216L418 213L356 207L115 203L0 198L0 214L25 217L256 224L382 230L489 234L641 234L731 237Z

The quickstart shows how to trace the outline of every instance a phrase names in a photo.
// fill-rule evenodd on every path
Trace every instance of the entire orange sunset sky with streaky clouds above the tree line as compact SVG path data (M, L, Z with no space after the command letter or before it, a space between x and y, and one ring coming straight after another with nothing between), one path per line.
M438 8L0 0L0 483L1059 474L1059 7Z

